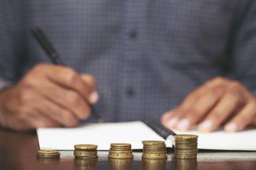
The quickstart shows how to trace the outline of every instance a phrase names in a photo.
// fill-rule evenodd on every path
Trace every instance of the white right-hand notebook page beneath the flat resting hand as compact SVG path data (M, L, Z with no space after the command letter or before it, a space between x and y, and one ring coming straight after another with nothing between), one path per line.
M256 129L247 128L240 132L215 132L203 133L198 130L181 132L174 130L177 134L198 135L199 149L220 149L220 150L250 150L256 151Z

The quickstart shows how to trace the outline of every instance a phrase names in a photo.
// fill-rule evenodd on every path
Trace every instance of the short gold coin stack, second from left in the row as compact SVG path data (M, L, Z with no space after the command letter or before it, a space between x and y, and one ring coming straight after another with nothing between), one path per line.
M75 159L92 159L97 158L97 145L75 145Z

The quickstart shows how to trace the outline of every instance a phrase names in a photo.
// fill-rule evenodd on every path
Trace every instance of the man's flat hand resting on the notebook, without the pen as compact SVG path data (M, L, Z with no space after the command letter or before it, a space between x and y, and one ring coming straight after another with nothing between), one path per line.
M211 132L220 125L235 132L256 125L256 98L238 81L217 77L192 91L180 106L165 113L161 122L177 130L198 124L201 132Z

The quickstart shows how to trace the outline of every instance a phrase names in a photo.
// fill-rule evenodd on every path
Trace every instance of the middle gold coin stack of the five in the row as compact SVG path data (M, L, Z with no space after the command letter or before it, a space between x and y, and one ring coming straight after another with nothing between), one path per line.
M134 157L132 154L132 145L127 143L112 143L108 157L114 159L131 159Z

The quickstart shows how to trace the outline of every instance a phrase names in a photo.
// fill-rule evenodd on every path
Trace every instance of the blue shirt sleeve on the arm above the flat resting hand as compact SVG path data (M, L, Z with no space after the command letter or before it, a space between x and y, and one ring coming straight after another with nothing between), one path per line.
M231 68L235 79L256 96L256 1L241 1L234 26Z

